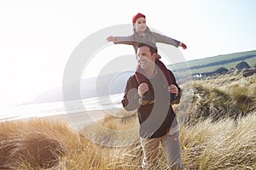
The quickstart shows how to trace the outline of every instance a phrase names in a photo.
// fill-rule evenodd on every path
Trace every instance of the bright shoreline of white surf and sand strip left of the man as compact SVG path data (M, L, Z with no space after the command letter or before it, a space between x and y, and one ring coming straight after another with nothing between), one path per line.
M123 94L82 100L57 101L50 103L17 105L0 111L0 122L42 118L61 122L92 122L122 108Z

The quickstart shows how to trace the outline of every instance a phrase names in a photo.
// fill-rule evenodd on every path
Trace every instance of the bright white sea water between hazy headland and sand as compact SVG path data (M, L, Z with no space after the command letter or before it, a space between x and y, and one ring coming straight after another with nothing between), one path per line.
M32 117L73 114L83 111L108 110L121 108L124 94L96 97L82 100L58 101L40 104L16 105L0 111L0 122Z

